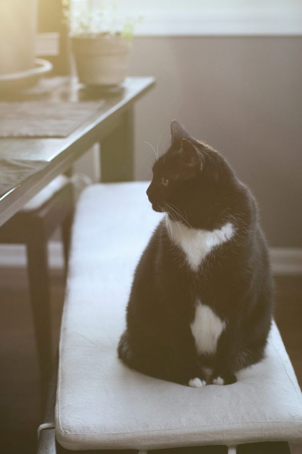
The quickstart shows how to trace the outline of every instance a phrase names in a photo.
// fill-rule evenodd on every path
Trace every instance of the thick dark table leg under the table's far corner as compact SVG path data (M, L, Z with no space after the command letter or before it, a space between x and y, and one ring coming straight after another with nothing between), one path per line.
M113 131L100 142L101 182L134 179L133 108L128 108Z

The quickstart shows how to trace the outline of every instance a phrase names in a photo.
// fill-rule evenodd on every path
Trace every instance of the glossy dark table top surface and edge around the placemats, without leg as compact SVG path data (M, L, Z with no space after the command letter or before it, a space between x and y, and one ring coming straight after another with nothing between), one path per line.
M40 171L0 196L0 225L57 175L68 170L94 143L110 133L117 125L120 115L155 84L155 79L128 77L122 87L109 92L85 88L73 77L51 77L40 82L35 89L8 101L93 101L98 107L88 120L66 137L0 138L0 161L46 163ZM47 89L47 85L50 88ZM0 166L0 178L1 171L5 172L5 166L2 169Z

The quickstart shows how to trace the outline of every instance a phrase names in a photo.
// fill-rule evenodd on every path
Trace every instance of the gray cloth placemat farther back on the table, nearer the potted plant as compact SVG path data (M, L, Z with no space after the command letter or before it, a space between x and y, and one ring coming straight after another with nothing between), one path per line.
M0 102L0 137L66 137L104 101Z

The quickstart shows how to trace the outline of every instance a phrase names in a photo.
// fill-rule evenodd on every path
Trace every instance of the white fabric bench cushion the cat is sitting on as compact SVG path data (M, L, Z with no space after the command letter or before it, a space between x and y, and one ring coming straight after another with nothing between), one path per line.
M302 440L302 397L275 325L230 386L190 388L117 358L133 272L161 214L146 183L97 184L77 207L61 327L56 437L69 449Z

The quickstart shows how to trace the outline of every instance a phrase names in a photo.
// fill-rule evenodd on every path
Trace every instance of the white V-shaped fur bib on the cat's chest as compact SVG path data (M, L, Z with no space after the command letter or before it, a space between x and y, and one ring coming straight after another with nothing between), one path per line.
M215 230L193 229L180 221L172 221L168 215L165 217L165 222L171 240L184 251L193 271L198 270L205 256L214 247L227 242L234 234L233 225L230 222Z

